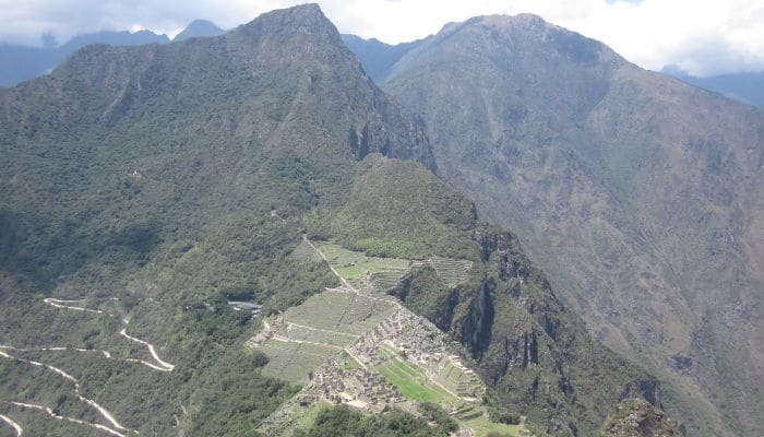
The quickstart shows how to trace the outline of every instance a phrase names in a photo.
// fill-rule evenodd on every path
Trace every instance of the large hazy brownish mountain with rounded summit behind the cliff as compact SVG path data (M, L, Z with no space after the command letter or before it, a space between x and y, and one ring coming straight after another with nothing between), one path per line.
M691 435L764 433L764 113L533 15L447 25L382 87Z

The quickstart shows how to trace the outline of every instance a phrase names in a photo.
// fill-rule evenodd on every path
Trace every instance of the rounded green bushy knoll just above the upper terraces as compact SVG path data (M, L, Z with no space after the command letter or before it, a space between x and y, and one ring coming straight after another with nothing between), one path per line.
M309 229L377 257L475 259L467 232L476 218L467 198L416 163L370 155L359 164L347 202L337 211L317 210Z

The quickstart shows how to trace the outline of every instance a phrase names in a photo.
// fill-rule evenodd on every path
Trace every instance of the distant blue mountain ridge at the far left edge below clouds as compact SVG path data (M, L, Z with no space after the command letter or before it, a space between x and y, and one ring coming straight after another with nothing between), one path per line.
M166 35L157 35L150 31L135 33L123 31L77 35L59 47L37 48L3 44L0 45L0 86L13 86L27 79L45 74L69 55L89 44L140 46L164 43L169 43Z

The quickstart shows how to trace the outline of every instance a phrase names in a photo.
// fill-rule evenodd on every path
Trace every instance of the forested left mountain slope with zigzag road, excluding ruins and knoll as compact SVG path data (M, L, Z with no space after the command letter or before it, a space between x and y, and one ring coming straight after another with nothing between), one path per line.
M0 91L0 408L25 435L251 434L295 388L226 298L337 285L288 256L302 214L342 203L363 154L432 162L317 7L89 46Z

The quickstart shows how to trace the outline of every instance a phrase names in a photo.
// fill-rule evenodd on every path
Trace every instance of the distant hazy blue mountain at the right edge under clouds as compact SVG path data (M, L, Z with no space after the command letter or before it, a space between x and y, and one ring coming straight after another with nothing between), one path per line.
M670 74L684 83L715 91L729 98L764 108L764 92L762 91L764 90L764 72L730 73L697 78L670 66L665 67L661 72Z

